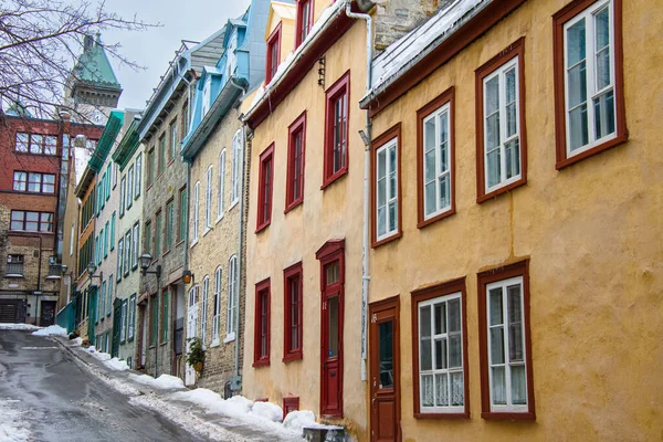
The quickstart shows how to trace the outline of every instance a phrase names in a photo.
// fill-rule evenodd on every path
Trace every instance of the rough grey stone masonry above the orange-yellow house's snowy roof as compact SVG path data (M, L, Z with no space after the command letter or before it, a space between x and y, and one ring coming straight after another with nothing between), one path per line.
M376 53L430 19L452 0L377 0Z

